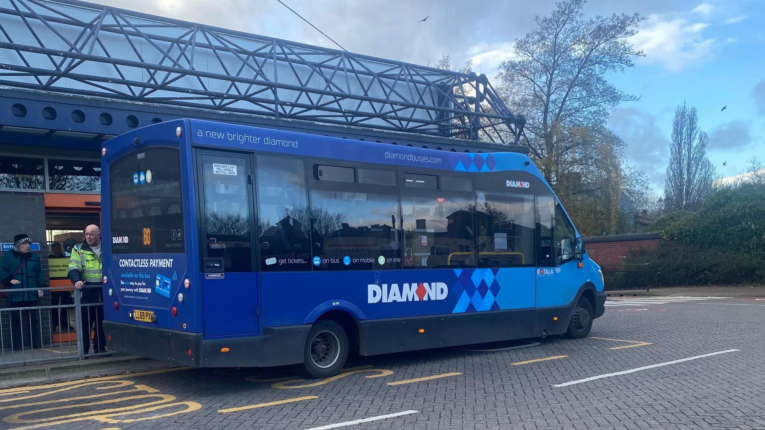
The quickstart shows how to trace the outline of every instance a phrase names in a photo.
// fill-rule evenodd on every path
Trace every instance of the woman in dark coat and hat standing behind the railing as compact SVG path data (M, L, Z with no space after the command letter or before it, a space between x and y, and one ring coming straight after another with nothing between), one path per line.
M4 252L2 259L0 259L0 281L6 288L24 288L28 291L9 292L8 301L11 308L37 306L37 298L39 297L37 288L46 287L40 257L31 252L31 239L25 234L18 234L13 238L13 247L12 251ZM40 348L42 344L40 311L10 311L10 314L13 350L18 351L22 347ZM27 324L22 324L23 315L26 315ZM31 329L31 332L28 333L26 329ZM24 331L24 340L27 340L24 344L21 340L22 331Z

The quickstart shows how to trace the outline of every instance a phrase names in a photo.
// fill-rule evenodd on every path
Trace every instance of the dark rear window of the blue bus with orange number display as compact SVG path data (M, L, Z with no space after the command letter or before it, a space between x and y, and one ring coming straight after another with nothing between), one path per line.
M184 252L177 148L143 148L112 162L109 195L112 253Z

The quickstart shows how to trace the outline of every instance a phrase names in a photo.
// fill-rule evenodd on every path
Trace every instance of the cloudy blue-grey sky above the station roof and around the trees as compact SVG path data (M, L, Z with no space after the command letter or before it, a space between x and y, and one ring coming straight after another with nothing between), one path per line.
M512 57L513 40L535 27L534 16L555 8L549 0L284 1L347 50L415 64L435 63L443 54L456 65L472 58L474 70L489 77ZM276 0L133 0L129 8L336 47ZM610 119L629 145L630 162L649 174L657 191L663 188L672 116L683 100L698 108L719 173L740 173L753 155L763 160L765 0L591 0L585 6L587 15L635 11L646 21L633 43L646 57L610 77L641 97L617 107ZM721 112L722 106L728 109Z

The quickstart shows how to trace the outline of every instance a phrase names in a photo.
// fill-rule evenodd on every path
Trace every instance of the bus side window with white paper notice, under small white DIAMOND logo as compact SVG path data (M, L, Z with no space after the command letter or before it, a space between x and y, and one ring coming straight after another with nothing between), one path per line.
M478 191L478 267L534 265L534 196Z

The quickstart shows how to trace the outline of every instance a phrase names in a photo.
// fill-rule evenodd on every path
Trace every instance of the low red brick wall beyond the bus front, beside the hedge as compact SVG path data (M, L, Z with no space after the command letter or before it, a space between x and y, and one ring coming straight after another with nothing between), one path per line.
M592 236L585 238L587 252L594 262L603 269L621 269L630 252L643 249L656 249L661 242L654 233L617 234L611 236Z

